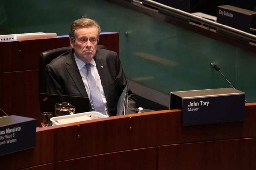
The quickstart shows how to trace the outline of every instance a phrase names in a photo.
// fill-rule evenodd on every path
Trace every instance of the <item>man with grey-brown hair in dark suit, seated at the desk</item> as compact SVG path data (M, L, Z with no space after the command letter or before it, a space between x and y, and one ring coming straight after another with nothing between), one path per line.
M97 49L100 32L99 24L88 18L72 23L69 32L72 50L46 66L47 93L89 97L93 111L103 108L98 112L114 116L127 80L117 53ZM94 81L91 76L96 85L91 85ZM99 93L96 97L101 96L99 99L94 99L94 87ZM129 90L127 114L131 113L136 113L136 108L133 93Z

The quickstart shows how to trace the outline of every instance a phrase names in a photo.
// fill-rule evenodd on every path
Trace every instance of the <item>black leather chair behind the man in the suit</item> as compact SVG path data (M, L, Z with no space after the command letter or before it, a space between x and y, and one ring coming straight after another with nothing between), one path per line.
M97 45L97 48L107 49L104 45ZM45 77L45 67L53 59L60 56L63 53L68 53L71 47L56 48L49 51L44 51L40 54L39 60L39 93L46 93L46 77Z

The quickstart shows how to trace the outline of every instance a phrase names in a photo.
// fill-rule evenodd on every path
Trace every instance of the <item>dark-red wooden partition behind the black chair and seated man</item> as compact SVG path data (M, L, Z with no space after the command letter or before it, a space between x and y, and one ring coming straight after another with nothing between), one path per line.
M119 54L119 33L101 33L99 44ZM8 115L35 118L37 126L41 126L39 57L43 51L66 46L70 46L68 36L0 41L0 108ZM4 116L1 111L0 116Z

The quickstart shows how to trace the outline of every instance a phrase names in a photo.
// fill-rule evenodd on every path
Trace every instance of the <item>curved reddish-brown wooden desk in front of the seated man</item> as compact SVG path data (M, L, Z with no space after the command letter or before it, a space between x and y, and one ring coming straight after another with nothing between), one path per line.
M254 169L256 103L245 120L182 126L181 110L37 128L36 145L0 157L1 169Z

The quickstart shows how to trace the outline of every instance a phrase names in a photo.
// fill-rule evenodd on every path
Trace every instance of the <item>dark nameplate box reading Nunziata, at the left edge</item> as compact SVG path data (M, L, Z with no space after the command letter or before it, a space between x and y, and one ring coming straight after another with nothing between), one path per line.
M36 119L0 117L0 155L35 147Z

